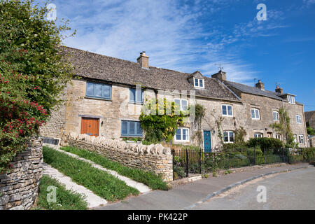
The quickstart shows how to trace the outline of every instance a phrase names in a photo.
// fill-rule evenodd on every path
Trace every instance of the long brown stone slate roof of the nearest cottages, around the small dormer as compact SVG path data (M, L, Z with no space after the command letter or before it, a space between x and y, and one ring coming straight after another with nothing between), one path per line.
M191 73L160 69L154 66L143 69L137 62L75 48L62 47L61 49L62 53L66 52L71 55L68 59L76 67L77 76L126 85L141 84L155 90L187 90L188 94L190 90L195 90L196 96L240 102L233 92L215 78L204 77L205 89L199 90L188 82Z

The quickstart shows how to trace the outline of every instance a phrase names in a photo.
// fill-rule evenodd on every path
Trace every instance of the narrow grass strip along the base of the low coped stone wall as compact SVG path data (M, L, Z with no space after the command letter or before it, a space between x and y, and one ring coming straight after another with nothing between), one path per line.
M154 174L153 172L145 172L141 169L125 167L123 165L120 165L118 162L113 162L105 158L102 155L99 155L94 152L86 151L83 149L79 149L76 147L66 146L60 149L69 153L76 154L80 156L81 158L91 160L106 169L114 170L118 172L118 174L127 176L134 181L137 181L139 183L144 183L146 186L148 186L152 190L169 190L167 183L162 181L161 177L158 176L157 174Z

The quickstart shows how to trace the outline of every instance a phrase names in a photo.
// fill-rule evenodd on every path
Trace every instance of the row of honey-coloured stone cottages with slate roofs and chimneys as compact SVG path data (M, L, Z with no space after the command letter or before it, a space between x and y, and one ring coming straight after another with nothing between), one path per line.
M278 86L272 92L265 90L260 80L255 87L230 82L223 71L209 78L200 71L160 69L149 66L145 52L141 52L137 62L67 47L61 52L76 66L80 78L73 78L73 85L66 88L66 104L54 111L41 128L43 137L64 139L69 132L107 139L144 137L139 123L142 106L149 99L167 95L182 110L193 101L204 106L206 115L201 127L205 151L220 146L216 125L220 118L227 143L234 141L238 127L245 128L246 140L253 137L283 140L269 126L279 120L281 107L288 111L295 141L300 147L307 147L304 106L295 102L294 94L283 93ZM193 100L191 92L195 94ZM197 144L194 127L190 121L179 127L174 144Z

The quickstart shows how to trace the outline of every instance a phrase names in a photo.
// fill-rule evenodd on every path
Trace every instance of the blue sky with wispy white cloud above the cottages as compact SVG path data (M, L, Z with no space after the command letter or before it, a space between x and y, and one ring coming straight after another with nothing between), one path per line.
M77 30L64 45L204 76L222 64L228 80L267 90L276 83L315 110L315 0L66 0L57 18ZM267 20L258 21L258 3Z

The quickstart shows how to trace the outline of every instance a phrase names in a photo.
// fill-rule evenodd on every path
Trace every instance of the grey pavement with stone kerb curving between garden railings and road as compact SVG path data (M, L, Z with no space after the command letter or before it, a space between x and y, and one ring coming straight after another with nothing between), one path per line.
M220 195L231 188L271 174L283 175L302 168L314 169L308 164L284 165L281 167L264 167L246 172L237 172L218 177L202 179L174 187L172 190L155 190L137 197L129 197L117 203L109 203L99 210L181 210L196 209L200 204ZM314 183L313 183L314 186ZM258 192L255 192L256 195ZM256 202L257 203L257 202Z

